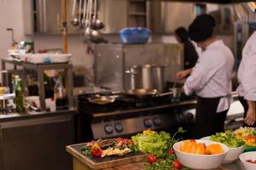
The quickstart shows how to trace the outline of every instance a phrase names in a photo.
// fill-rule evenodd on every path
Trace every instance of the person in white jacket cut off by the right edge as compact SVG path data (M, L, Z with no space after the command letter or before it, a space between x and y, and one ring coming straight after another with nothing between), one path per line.
M238 69L237 92L244 107L244 122L254 126L256 122L256 31L247 40L242 50L242 59Z

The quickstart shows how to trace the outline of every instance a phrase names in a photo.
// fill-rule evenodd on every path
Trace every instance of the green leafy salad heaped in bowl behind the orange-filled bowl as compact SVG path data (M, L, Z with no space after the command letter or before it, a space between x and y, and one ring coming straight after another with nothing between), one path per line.
M236 148L245 145L243 139L230 130L227 130L224 133L216 133L212 135L211 140L226 144L230 148Z

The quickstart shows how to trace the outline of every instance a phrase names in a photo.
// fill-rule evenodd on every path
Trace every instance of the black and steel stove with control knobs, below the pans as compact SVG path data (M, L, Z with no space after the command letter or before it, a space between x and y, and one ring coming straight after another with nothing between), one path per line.
M148 128L175 131L181 126L189 128L194 120L187 110L195 107L195 99L167 96L137 100L121 95L113 103L96 105L88 101L91 95L95 94L78 97L78 142L129 137Z

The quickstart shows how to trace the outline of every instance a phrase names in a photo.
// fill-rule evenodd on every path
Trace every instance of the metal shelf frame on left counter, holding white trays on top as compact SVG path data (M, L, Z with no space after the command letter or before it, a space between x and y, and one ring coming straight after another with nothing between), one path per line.
M38 94L40 99L40 106L41 110L46 110L45 105L45 89L44 89L44 71L46 70L58 70L62 69L65 70L65 74L67 77L67 97L68 97L68 106L69 109L73 109L73 65L68 63L51 63L51 64L33 64L28 63L24 61L15 61L13 59L9 58L3 58L2 59L2 69L6 70L6 64L14 65L14 70L17 70L17 66L23 67L23 82L24 82L24 88L27 88L27 70L33 70L37 72L38 75ZM3 83L7 84L7 82L4 82L5 78L3 78Z

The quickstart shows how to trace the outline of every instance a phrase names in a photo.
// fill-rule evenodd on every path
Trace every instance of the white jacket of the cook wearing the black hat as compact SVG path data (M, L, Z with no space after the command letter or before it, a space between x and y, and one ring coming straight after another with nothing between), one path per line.
M201 53L191 75L184 84L185 94L202 98L222 97L217 112L226 111L230 106L232 70L234 55L222 40L212 42Z

